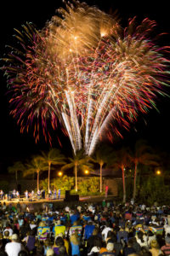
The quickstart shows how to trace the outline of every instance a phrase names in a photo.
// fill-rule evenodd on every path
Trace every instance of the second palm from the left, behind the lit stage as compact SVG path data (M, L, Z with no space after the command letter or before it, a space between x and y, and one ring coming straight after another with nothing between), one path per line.
M30 163L26 164L26 172L24 172L24 177L37 172L37 191L39 190L39 175L40 171L47 171L48 167L44 166L42 156L33 156Z

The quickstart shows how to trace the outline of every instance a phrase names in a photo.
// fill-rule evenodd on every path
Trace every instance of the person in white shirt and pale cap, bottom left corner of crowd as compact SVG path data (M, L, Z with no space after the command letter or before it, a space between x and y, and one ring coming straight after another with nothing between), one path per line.
M8 256L18 256L21 250L24 250L23 245L18 241L18 235L13 234L11 236L11 241L5 246L5 252Z

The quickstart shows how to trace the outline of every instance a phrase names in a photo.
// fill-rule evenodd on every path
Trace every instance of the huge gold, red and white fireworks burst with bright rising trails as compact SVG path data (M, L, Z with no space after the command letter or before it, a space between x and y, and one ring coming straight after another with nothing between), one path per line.
M51 142L48 125L59 123L76 154L93 154L99 138L121 136L139 113L155 107L167 84L168 47L158 47L150 32L156 22L125 29L116 18L86 3L59 9L42 31L16 31L20 49L11 48L3 67L11 93L11 114L20 131L34 126Z

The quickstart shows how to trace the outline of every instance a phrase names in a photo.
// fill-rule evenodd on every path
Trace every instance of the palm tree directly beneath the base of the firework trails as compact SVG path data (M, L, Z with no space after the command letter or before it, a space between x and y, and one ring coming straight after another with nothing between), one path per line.
M66 169L70 169L74 167L74 172L75 172L75 190L77 191L77 171L78 169L84 171L84 170L89 170L91 164L88 162L90 158L86 155L83 154L83 151L77 151L77 154L73 154L72 158L69 158L70 163L66 164L61 168L62 171Z

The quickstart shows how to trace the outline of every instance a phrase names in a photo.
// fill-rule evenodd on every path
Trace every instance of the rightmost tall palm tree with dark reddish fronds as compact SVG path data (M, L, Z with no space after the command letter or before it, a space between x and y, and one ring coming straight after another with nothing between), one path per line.
M134 164L134 181L133 181L133 200L136 197L136 181L138 175L138 165L142 164L145 166L159 166L156 154L153 154L149 145L144 140L139 140L135 144L134 152L131 153L130 159Z

